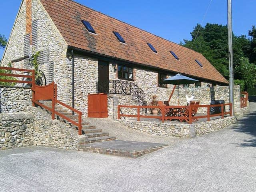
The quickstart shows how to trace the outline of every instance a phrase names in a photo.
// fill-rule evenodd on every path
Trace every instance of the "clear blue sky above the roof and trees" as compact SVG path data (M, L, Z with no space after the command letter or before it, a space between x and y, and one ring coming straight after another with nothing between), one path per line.
M0 34L10 35L21 0L0 0ZM76 0L85 6L179 43L191 39L210 0ZM246 34L256 25L256 0L233 0L233 32ZM212 0L206 22L227 24L227 0ZM0 50L2 58L4 50Z

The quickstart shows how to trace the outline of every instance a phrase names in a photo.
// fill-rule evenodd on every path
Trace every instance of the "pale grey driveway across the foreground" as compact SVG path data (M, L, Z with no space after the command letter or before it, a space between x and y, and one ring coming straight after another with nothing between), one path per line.
M0 152L1 192L255 192L256 105L235 126L138 159L28 147ZM136 132L137 133L137 132Z

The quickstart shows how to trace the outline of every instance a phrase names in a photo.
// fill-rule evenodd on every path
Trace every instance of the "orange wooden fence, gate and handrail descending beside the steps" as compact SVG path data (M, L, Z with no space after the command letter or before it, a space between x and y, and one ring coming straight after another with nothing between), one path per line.
M24 81L24 80L4 80L0 79L0 82L13 82L13 83L27 83L31 84L31 90L32 90L32 104L35 106L35 104L49 110L52 113L52 119L55 119L55 114L60 116L61 118L67 120L68 122L74 124L78 127L78 134L82 134L82 112L60 102L57 100L57 84L54 84L52 82L51 84L48 84L46 86L38 86L35 84L35 70L27 70L27 69L19 69L19 68L10 68L10 67L0 67L0 69L3 70L11 70L11 71L22 71L22 72L31 72L32 75L20 75L20 74L8 74L8 73L0 73L0 76L10 76L10 77L22 77L22 78L30 78L31 81ZM44 104L40 103L39 100L51 100L52 101L52 108L49 108L48 106L45 106ZM78 114L78 122L75 122L68 118L67 116L61 114L60 112L57 112L55 110L55 105L60 104L66 108L68 108L71 111L74 111Z

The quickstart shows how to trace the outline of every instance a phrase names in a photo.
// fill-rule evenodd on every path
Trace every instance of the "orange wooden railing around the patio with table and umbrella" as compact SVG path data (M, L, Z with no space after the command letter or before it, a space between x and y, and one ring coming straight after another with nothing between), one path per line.
M230 111L225 112L224 106L229 106ZM219 114L210 114L210 108L211 107L221 107L221 113ZM131 114L120 114L121 108L136 108L137 114L131 115ZM144 108L154 108L158 109L162 112L161 116L153 116L153 115L141 115L140 109ZM194 108L207 108L207 114L206 115L200 115L200 116L192 116L192 112ZM179 113L178 116L166 116L166 111L168 109L175 109L177 113ZM137 121L140 121L140 118L157 118L162 120L164 122L165 120L180 120L180 121L186 121L189 124L194 122L195 120L198 120L200 118L207 118L207 121L210 121L211 117L214 116L221 116L221 118L224 118L224 115L229 114L230 116L233 116L232 114L232 104L218 104L218 105L190 105L190 106L127 106L127 105L118 105L118 119L121 117L135 117L137 118Z

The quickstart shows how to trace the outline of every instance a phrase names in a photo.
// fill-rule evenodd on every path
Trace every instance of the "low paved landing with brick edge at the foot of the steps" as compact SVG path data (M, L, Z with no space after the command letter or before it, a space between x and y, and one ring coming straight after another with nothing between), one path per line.
M83 144L79 146L79 150L99 154L138 158L166 146L167 144L162 143L113 140L92 144Z

